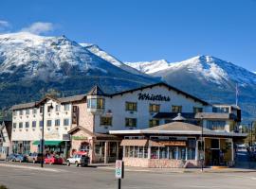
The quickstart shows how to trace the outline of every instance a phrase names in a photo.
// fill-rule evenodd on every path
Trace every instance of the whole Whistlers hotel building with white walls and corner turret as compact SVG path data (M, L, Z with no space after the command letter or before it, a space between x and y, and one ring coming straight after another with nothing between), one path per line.
M165 83L117 94L104 94L95 86L84 95L46 96L37 103L13 106L12 151L37 150L42 131L40 107L45 107L46 145L55 145L51 149L57 150L68 141L65 154L87 150L91 163L122 158L126 165L189 167L199 166L204 157L206 165L232 165L233 144L245 137L235 132L241 120L238 107L221 112L223 107Z

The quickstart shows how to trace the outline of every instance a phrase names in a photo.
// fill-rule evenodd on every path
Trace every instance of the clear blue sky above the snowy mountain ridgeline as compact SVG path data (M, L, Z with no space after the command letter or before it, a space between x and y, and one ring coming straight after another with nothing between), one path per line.
M0 32L22 29L123 61L212 55L256 71L256 0L1 0Z

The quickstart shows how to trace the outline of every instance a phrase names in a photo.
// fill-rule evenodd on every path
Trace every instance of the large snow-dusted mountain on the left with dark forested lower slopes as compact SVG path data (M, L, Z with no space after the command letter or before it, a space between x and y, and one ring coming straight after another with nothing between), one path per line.
M39 99L52 90L84 94L100 84L105 93L114 93L155 82L119 67L128 66L103 60L65 36L0 35L0 108Z

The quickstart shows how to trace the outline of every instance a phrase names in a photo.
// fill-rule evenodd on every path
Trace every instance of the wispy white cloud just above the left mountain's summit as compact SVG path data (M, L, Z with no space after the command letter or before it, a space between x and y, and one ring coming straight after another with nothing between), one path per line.
M52 31L53 29L54 29L54 26L52 23L37 22L37 23L33 23L28 27L22 28L21 31L27 31L33 34L43 34L43 33Z

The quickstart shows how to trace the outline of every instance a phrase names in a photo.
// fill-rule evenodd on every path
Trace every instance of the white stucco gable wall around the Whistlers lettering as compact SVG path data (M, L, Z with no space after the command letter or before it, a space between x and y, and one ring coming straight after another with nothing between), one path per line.
M169 96L170 101L152 101L152 100L138 100L138 94L161 94L162 96ZM155 86L147 88L142 91L135 91L133 93L114 95L112 98L105 98L105 110L101 114L96 114L95 117L95 131L107 132L109 129L129 129L125 127L125 117L137 118L137 129L145 129L149 127L149 120L153 118L155 113L149 112L150 104L159 104L160 112L172 112L172 105L182 106L182 112L193 112L193 107L203 108L203 112L211 112L212 108L204 106L198 101L184 95L178 94L173 90L169 90L164 86ZM125 111L125 102L137 102L137 112ZM112 112L112 127L102 127L100 117L106 115L106 112Z

